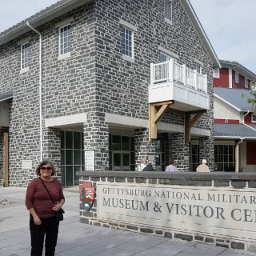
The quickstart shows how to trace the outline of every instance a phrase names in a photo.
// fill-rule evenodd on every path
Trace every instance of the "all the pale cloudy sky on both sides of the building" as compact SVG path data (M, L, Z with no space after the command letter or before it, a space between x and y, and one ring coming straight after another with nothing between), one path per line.
M57 0L0 0L0 31ZM219 59L239 62L256 74L256 0L190 0Z

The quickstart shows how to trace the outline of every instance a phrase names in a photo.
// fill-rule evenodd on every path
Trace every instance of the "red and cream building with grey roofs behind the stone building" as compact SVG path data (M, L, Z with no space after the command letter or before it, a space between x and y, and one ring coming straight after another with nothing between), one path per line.
M220 60L214 70L215 170L256 172L256 115L247 102L256 74Z

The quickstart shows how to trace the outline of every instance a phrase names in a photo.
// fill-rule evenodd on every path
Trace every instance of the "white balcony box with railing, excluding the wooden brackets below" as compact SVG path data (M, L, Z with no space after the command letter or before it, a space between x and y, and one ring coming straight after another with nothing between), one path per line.
M149 103L173 101L182 111L209 110L207 76L171 60L150 64Z

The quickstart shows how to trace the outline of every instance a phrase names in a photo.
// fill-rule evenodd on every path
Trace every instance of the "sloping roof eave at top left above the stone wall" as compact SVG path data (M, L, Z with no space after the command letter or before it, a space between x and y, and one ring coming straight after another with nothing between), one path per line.
M59 1L45 10L42 10L38 14L34 14L30 18L27 18L25 21L19 22L17 25L10 27L10 29L3 31L0 34L0 46L30 31L30 28L26 25L26 22L30 22L30 25L36 28L45 24L46 22L50 22L62 14L66 14L66 12L70 10L74 10L78 6L82 6L83 4L91 1L92 0Z

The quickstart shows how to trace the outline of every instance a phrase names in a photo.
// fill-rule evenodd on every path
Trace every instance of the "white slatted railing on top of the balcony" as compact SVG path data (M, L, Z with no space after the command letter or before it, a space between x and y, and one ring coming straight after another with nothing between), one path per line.
M150 85L162 82L177 82L207 94L207 75L190 70L174 60L150 64Z

